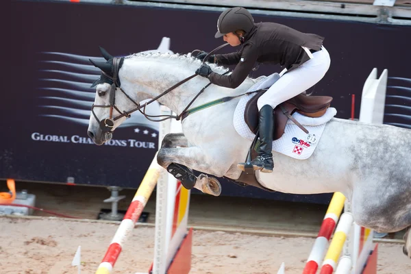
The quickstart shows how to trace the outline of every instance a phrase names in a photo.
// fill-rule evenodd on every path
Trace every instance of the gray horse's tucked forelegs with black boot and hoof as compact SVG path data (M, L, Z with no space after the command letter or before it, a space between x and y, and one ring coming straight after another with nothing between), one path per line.
M210 163L208 159L199 149L199 147L186 148L166 148L163 147L158 151L157 162L169 173L179 179L185 188L197 188L204 193L219 196L221 193L221 185L219 181L208 175L201 174L196 177L190 169L201 171L204 173L214 174L222 177L225 174L223 170L224 164L216 162ZM188 166L190 169L188 169Z

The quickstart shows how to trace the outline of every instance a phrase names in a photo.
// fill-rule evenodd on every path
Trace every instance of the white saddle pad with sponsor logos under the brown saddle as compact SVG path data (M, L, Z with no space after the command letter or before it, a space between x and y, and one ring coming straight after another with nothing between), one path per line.
M236 132L240 134L242 138L248 140L254 140L256 136L251 132L244 120L245 105L253 96L254 95L245 95L240 99L233 119ZM310 158L323 134L325 124L331 120L336 113L337 110L335 108L328 108L323 116L311 118L295 112L295 114L292 114L292 117L306 127L309 134L306 134L295 125L295 123L288 120L283 136L273 141L273 151L299 160Z

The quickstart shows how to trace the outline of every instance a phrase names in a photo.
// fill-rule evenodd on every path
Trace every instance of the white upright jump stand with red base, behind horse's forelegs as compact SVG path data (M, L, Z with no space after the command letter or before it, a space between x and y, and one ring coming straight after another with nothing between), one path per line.
M162 115L173 114L160 106ZM182 132L175 120L160 122L159 148L164 136ZM166 169L161 169L156 189L155 243L149 274L188 274L191 267L192 229L188 229L190 190L184 188Z

